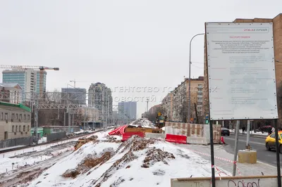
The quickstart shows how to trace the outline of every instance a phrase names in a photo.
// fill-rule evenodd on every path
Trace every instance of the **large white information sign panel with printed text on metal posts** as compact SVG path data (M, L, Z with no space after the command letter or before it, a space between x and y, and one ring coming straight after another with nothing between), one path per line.
M272 22L207 22L211 120L277 119Z

